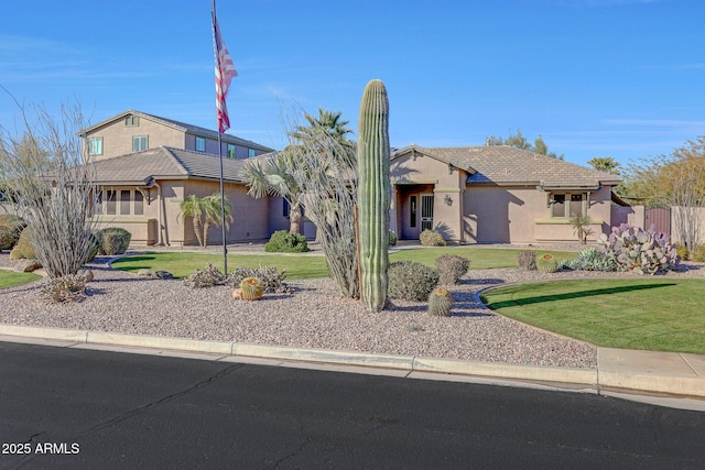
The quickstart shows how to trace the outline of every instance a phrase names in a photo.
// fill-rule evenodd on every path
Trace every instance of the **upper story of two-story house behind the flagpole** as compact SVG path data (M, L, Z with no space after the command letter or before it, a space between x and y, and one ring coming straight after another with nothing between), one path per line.
M132 109L85 129L80 136L88 146L88 155L96 161L162 145L218 154L218 132ZM273 149L225 133L221 151L224 157L242 160Z

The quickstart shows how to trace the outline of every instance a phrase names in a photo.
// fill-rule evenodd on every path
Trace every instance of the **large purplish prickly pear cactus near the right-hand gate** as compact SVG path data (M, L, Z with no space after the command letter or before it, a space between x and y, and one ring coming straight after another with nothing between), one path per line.
M603 233L597 241L620 271L655 274L675 267L680 261L671 238L653 229L644 231L622 223L612 227L609 237Z

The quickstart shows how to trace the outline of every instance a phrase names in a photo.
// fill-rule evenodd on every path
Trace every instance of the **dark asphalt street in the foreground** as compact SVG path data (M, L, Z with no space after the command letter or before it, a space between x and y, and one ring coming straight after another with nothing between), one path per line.
M1 468L702 469L705 413L0 342Z

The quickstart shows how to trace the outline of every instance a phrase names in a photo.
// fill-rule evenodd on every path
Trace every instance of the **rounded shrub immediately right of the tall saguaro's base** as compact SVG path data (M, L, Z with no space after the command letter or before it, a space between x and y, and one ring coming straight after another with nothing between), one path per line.
M387 296L402 300L426 300L440 278L436 270L415 261L394 261L387 275Z

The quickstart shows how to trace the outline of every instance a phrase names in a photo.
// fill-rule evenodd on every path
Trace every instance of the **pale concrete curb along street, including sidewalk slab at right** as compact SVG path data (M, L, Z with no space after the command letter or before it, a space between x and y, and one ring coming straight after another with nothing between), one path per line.
M203 353L210 360L254 358L308 364L313 369L327 365L356 372L392 371L394 375L408 378L477 378L597 393L617 391L705 398L705 356L698 354L598 348L597 369L573 369L17 325L0 325L0 336L58 341L67 347L144 348L148 353L155 354L162 350Z

